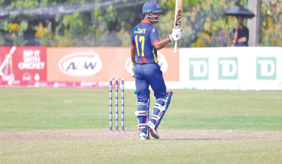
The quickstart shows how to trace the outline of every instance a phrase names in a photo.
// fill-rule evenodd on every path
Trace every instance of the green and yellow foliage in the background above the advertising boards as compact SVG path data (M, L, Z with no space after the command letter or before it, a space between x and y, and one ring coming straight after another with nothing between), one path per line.
M93 10L67 15L58 14L50 18L38 19L35 14L28 17L25 15L6 17L0 22L0 32L3 36L0 39L0 46L130 46L133 28L143 19L141 11L146 1L124 0L122 5L110 2L113 3L102 0L0 0L0 4L6 10L28 10L56 5L87 7L88 4L92 4L96 7L102 3L109 3ZM157 26L160 39L164 39L173 28L175 1L157 2L164 11L163 23ZM237 20L222 13L236 5L248 8L248 0L184 0L182 17L184 32L179 46L232 46L231 32ZM260 6L259 46L281 46L281 3L261 1ZM19 25L18 29L13 28L16 25ZM30 40L38 40L38 43Z

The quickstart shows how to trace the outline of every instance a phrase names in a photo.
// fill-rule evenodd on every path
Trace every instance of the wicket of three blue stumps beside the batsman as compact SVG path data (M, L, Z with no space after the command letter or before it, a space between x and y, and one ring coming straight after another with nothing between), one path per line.
M112 132L112 80L115 80L115 132L118 132L118 80L122 81L122 132L125 130L125 125L124 125L124 113L125 113L125 108L124 108L124 95L125 95L125 89L124 89L124 79L123 78L110 78L110 132Z

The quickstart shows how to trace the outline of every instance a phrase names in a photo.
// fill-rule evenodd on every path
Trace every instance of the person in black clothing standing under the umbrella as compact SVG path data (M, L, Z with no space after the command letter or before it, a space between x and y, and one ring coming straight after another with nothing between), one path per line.
M235 46L248 46L249 29L243 25L244 17L237 16L238 25L232 32L232 43Z

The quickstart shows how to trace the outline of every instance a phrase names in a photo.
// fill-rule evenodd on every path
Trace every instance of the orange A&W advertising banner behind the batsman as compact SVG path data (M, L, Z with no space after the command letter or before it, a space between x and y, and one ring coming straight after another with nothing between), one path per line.
M179 53L173 48L158 51L158 61L166 81L179 81ZM108 81L129 75L130 47L47 48L48 81Z

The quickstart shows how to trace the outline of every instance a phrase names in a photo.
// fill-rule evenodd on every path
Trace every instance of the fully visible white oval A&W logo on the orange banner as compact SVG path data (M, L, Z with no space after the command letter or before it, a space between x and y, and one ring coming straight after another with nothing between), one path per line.
M59 70L70 76L90 76L102 69L102 61L93 51L75 52L59 60Z

